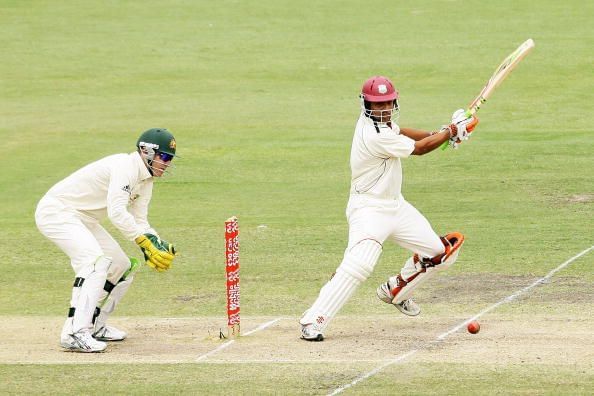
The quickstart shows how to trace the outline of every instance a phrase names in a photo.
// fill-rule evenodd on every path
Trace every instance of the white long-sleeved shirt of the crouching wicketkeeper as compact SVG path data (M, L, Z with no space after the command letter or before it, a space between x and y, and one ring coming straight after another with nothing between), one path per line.
M108 217L129 240L150 232L148 205L153 178L138 152L95 161L54 185L46 194L59 199L83 219Z

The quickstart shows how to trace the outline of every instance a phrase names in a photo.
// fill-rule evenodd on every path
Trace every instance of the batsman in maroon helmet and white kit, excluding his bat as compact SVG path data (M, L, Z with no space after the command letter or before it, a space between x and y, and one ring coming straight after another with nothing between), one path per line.
M435 271L452 265L464 237L440 237L425 217L401 194L401 158L423 155L448 142L457 147L478 123L463 110L439 132L400 128L398 91L385 77L372 77L361 92L361 115L351 148L351 191L347 205L349 243L335 275L322 287L300 320L301 337L322 341L324 330L357 287L373 272L382 245L391 240L410 250L412 257L400 273L377 289L378 297L406 315L420 313L412 292Z

